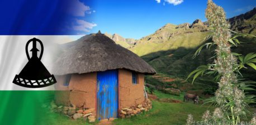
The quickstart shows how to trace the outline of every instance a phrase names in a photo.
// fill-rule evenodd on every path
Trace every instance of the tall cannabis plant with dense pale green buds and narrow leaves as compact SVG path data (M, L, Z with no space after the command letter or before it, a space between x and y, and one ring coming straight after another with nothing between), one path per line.
M231 52L230 48L240 44L238 37L255 36L229 30L230 25L226 21L224 9L217 6L212 0L208 0L206 18L213 42L201 46L194 57L200 53L204 46L207 49L215 46L215 60L212 64L199 66L188 75L188 78L193 75L193 83L200 75L215 74L215 80L219 84L215 97L207 100L207 102L214 103L217 108L212 116L210 112L206 111L202 121L218 124L239 124L241 117L246 118L248 116L248 104L254 103L254 96L245 94L245 90L253 90L250 88L252 86L250 84L254 82L238 79L242 76L239 70L248 66L256 70L256 54L250 53L243 56Z

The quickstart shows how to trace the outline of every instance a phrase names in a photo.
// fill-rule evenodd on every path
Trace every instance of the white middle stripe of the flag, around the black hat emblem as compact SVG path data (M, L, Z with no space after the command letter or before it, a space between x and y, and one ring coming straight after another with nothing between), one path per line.
M73 41L74 36L61 35L4 35L0 36L0 90L54 90L54 85L44 88L25 88L13 84L12 81L15 75L19 74L23 67L29 61L26 56L25 46L27 41L36 37L40 39L44 45L44 53L41 62L51 73L51 64L53 64L53 53L58 50L57 43ZM31 56L32 42L29 45L29 53ZM37 44L37 49L41 50L40 44ZM37 55L40 55L38 52ZM52 74L52 73L51 73Z

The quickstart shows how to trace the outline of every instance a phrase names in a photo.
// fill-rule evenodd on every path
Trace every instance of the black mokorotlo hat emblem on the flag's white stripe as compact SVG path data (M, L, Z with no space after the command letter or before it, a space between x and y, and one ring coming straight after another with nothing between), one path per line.
M39 42L41 45L41 52L39 58L37 57L36 42ZM32 57L29 56L28 47L30 42L33 42ZM13 83L16 85L24 86L27 88L41 88L56 83L54 75L51 75L49 71L45 68L44 64L40 61L42 58L42 52L44 52L44 46L42 46L42 41L36 38L33 38L27 41L26 44L26 55L29 62L21 70L21 73L16 75L13 79Z

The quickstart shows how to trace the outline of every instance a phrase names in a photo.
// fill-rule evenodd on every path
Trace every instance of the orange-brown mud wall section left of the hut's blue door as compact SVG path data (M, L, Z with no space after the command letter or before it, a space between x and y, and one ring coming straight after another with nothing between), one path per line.
M74 104L77 107L96 108L97 73L72 74L69 85L64 86L65 76L57 78L56 104ZM66 91L64 91L66 90Z

